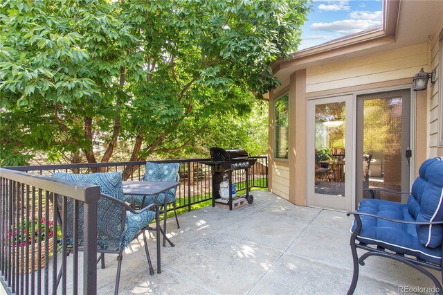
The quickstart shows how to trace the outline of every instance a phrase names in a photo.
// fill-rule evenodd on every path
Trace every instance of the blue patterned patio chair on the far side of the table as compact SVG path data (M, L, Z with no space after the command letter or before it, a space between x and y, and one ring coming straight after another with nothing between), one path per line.
M146 162L146 174L143 177L143 181L180 181L179 176L179 163L152 163ZM159 212L163 213L163 231L166 233L166 220L168 218L166 205L172 204L174 208L175 221L177 222L177 229L180 229L179 218L176 211L176 188L172 188L168 193L161 193L158 196L145 195L145 196L132 196L126 195L125 201L131 203L135 208L143 208L147 204L153 204L156 202L159 205ZM166 200L165 200L166 197ZM165 247L166 238L163 237L163 247ZM172 244L171 244L172 245Z

